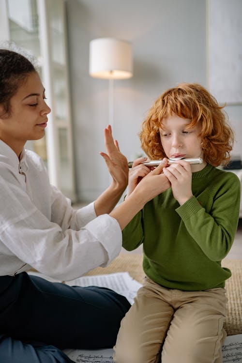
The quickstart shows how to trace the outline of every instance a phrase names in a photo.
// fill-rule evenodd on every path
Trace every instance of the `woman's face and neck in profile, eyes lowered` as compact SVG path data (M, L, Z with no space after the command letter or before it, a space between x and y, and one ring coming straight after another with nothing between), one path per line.
M36 72L27 76L10 99L10 110L10 117L0 118L0 139L19 156L26 141L45 135L50 112L45 103L45 89Z

